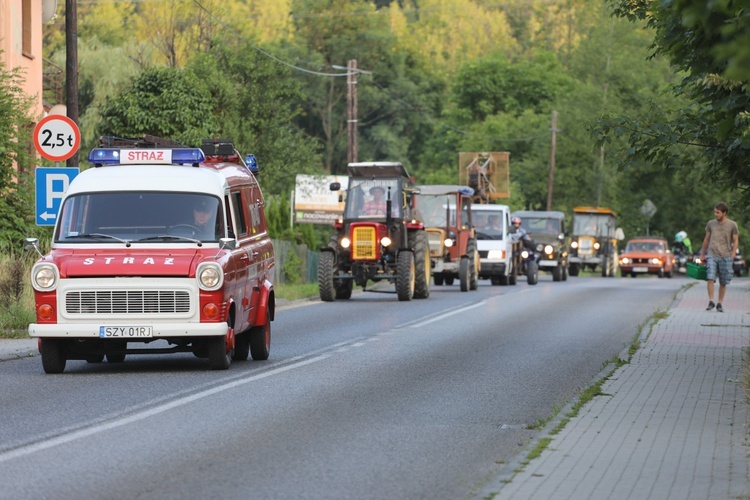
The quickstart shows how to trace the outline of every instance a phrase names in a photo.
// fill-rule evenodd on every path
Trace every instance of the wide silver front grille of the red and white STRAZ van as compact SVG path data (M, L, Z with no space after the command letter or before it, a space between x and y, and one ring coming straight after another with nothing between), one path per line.
M190 312L184 290L97 290L67 292L68 314L169 314Z

